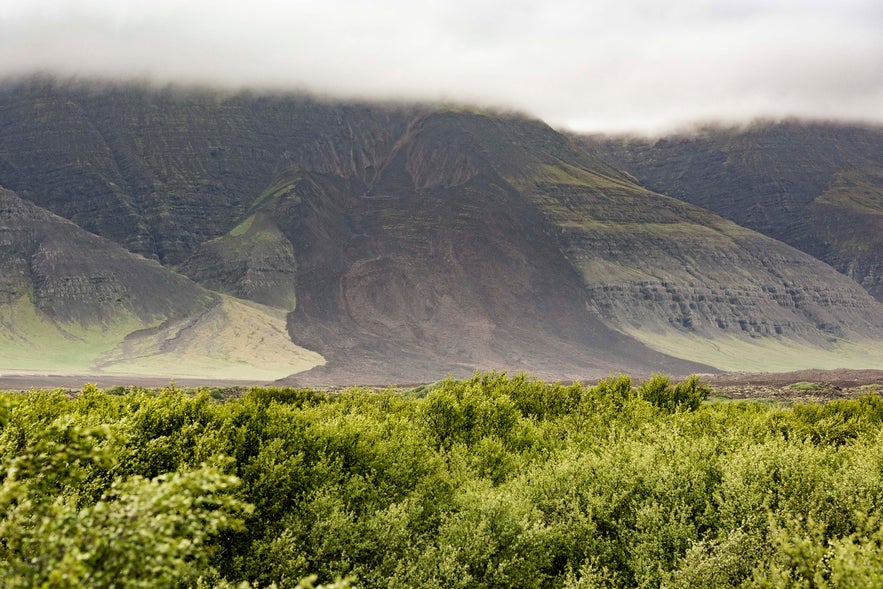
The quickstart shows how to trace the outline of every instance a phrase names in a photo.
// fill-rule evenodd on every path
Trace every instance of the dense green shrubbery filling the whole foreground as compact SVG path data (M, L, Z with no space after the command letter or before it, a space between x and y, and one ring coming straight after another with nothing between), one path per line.
M4 586L883 586L877 396L114 393L0 395Z

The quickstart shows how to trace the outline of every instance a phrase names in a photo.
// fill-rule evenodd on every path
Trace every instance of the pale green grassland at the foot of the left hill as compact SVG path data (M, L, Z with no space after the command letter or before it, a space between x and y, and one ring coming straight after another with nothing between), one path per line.
M25 299L0 309L0 369L266 381L325 363L291 341L283 311L232 297L198 318L126 338L145 327L132 317L60 326Z

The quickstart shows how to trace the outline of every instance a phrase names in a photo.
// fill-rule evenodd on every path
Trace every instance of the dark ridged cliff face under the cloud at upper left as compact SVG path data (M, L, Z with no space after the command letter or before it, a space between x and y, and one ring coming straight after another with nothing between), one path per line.
M233 229L281 170L370 182L415 116L291 95L22 83L0 88L0 182L177 265Z

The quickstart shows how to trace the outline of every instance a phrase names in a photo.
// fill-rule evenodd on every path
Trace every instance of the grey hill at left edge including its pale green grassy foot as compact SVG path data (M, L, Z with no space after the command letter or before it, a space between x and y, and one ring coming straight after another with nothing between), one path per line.
M0 189L2 368L267 380L321 362L290 341L278 312L222 298Z

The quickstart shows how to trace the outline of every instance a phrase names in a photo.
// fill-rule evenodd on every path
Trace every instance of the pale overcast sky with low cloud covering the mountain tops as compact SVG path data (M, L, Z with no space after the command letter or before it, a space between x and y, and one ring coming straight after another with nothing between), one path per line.
M0 75L509 107L582 131L883 122L883 0L0 0Z

